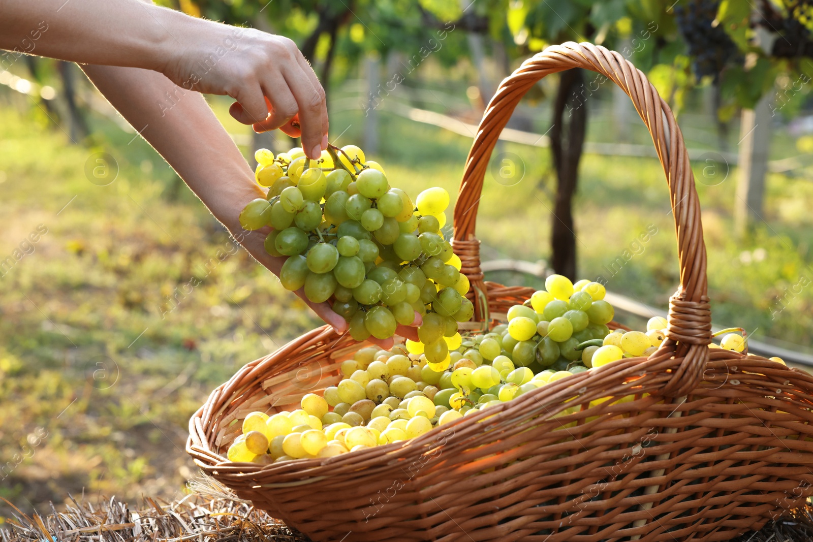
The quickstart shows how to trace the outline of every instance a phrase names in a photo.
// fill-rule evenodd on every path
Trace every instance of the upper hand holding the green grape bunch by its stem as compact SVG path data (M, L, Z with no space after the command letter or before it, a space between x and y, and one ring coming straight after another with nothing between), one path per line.
M184 33L180 40L192 46L173 49L163 74L185 89L234 98L235 119L257 132L280 128L302 137L307 157L319 158L328 147L324 89L296 44L253 28L205 23L205 32Z

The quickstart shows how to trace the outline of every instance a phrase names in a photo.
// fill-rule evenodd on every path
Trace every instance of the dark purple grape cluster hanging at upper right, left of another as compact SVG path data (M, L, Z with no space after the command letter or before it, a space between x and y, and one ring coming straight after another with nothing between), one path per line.
M689 46L692 67L698 79L712 76L720 81L720 73L729 63L741 63L742 55L722 26L714 26L720 0L686 0L675 7L677 28Z

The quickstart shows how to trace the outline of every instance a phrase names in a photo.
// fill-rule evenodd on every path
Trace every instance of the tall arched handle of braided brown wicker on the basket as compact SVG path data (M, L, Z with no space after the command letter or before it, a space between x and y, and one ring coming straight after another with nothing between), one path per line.
M474 236L477 207L485 171L494 145L498 141L515 106L528 89L550 73L581 67L598 72L619 85L632 98L638 115L652 135L663 172L666 174L672 215L675 217L680 288L669 299L667 340L663 348L675 350L676 358L684 357L665 388L664 394L680 396L698 384L708 358L706 345L711 343L711 310L706 296L706 245L700 221L700 202L689 166L689 154L675 116L658 91L640 70L616 51L591 43L567 41L550 46L522 63L511 76L502 80L489 102L477 128L466 160L466 171L454 206L454 253L463 262L461 271L472 283L470 297L476 291L485 293L480 270L480 241ZM475 300L476 301L476 300ZM485 318L475 302L475 318ZM661 350L662 352L663 350Z

